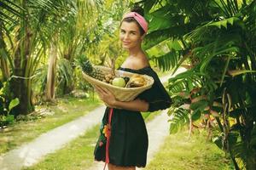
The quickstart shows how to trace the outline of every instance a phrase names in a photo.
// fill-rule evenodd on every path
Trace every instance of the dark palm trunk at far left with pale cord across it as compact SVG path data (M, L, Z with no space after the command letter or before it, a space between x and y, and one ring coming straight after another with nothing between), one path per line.
M26 8L26 1L21 1L21 6ZM32 80L30 79L31 66L31 38L32 33L28 26L28 19L24 12L24 17L20 20L20 29L15 35L14 55L14 77L10 81L10 88L14 98L20 99L20 105L14 109L15 115L27 114L33 111L32 105Z

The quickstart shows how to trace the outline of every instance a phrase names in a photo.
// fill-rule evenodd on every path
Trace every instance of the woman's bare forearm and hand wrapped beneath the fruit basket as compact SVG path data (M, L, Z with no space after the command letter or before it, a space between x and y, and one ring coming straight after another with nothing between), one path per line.
M102 101L109 107L125 109L129 111L148 111L148 103L141 99L135 99L132 101L119 101L115 99L113 94L106 88L95 87L97 94Z

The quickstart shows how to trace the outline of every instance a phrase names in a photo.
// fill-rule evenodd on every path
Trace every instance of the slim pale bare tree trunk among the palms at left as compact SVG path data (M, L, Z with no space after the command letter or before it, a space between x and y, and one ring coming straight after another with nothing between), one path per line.
M49 49L49 66L47 73L47 82L46 82L46 100L52 101L55 99L55 72L56 72L56 60L57 60L57 48L56 42L50 44Z

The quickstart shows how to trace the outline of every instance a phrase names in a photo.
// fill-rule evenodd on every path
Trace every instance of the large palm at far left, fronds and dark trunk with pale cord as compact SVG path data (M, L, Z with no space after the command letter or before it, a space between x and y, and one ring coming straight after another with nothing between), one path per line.
M73 1L5 1L10 7L17 8L20 12L15 17L15 22L9 24L4 22L3 42L8 43L4 47L5 54L8 54L11 76L11 89L14 97L20 99L17 108L21 113L33 110L32 106L32 78L40 65L40 59L44 56L51 42L51 33L55 31L61 19L67 14ZM20 7L20 8L18 8ZM2 11L2 10L1 10ZM9 11L3 10L5 15ZM3 15L3 16L5 16ZM3 20L10 20L9 17L2 17Z

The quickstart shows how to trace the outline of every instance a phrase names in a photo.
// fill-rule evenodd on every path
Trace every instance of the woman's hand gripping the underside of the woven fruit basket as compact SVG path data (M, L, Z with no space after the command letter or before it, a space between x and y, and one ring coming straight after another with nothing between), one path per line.
M108 105L109 107L115 107L114 104L116 102L116 99L114 97L114 95L108 91L107 88L102 88L99 86L94 86L96 89L96 93L99 94L100 99L102 99L102 101Z

